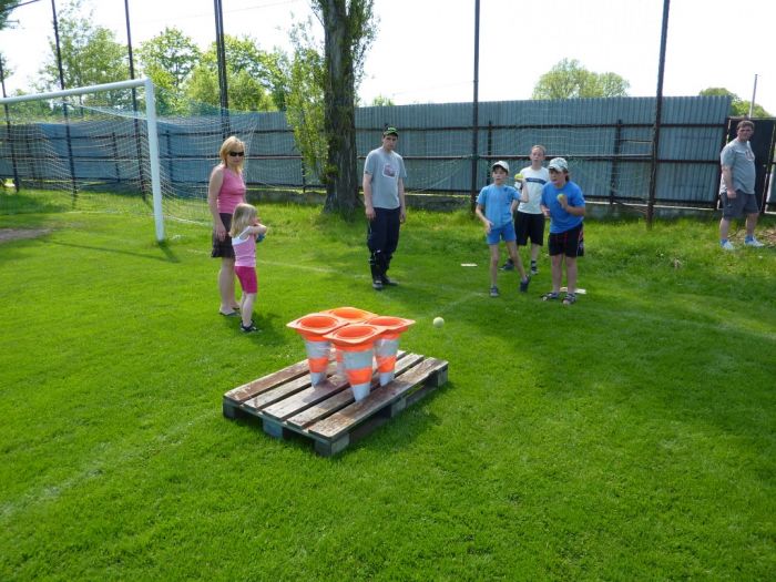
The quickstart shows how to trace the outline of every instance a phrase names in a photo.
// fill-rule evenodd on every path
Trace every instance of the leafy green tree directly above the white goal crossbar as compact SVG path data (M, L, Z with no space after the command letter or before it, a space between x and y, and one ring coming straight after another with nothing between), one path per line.
M73 0L59 18L59 37L65 89L124 81L129 76L125 49L115 33L92 24L92 11L80 17L83 0ZM51 53L40 70L39 91L60 89L57 44L49 40Z

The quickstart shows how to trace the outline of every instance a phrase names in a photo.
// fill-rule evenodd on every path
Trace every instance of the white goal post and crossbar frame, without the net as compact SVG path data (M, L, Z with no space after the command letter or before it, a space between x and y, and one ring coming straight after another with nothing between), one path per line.
M0 99L0 105L10 105L25 101L38 101L45 99L57 99L73 95L83 95L100 91L115 91L121 89L134 89L143 86L145 90L145 120L149 134L149 162L151 170L151 192L153 194L154 223L156 227L156 241L164 241L164 218L162 214L162 185L159 163L159 136L156 129L156 100L154 96L154 85L151 79L133 79L119 81L115 83L104 83L100 85L80 86L76 89L65 89L63 91L52 91L50 93L37 93L32 95L18 95Z

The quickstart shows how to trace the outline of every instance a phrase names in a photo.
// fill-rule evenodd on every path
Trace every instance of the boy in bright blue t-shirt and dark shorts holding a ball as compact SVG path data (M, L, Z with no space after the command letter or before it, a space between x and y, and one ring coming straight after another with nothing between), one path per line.
M563 298L563 305L571 305L576 302L576 257L583 253L584 195L569 180L569 164L564 159L554 157L548 170L550 182L542 188L541 208L551 221L548 246L552 265L552 290L542 295L542 299L558 299L565 262L569 292Z

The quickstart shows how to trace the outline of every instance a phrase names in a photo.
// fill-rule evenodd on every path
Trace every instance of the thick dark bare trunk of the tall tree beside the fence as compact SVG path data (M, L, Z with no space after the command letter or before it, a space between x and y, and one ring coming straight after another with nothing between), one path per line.
M353 33L346 0L320 2L325 29L326 91L324 130L328 156L326 212L353 214L363 205L356 167L356 112Z

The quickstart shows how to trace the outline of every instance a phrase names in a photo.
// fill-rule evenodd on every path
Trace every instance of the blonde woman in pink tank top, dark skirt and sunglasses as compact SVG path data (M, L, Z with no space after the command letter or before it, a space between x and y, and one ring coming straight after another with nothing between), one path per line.
M221 307L218 313L225 316L236 316L239 303L235 298L234 248L232 248L229 228L235 207L245 202L245 181L243 180L245 144L232 135L222 144L218 156L221 163L211 172L211 181L207 186L207 205L213 215L213 252L211 256L221 257L221 269L218 270Z

